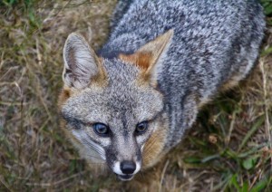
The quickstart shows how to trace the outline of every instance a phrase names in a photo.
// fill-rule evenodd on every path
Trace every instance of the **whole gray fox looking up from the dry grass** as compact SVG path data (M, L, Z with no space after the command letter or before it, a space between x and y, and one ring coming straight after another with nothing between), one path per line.
M121 180L179 144L201 106L246 77L264 36L255 0L120 1L95 53L63 48L61 127L80 154Z

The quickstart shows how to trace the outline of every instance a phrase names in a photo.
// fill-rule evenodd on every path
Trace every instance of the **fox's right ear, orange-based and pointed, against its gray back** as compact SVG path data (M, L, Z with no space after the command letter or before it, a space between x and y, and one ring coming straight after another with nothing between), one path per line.
M141 77L156 85L163 57L170 47L173 33L173 30L170 29L165 34L161 34L153 41L143 45L136 53L120 54L119 58L124 62L136 64L141 69Z

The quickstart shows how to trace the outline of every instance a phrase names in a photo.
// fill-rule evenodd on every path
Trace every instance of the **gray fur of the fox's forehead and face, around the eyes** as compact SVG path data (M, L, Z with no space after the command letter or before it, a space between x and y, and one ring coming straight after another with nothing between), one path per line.
M80 140L81 145L75 144L75 147L83 157L97 162L98 152L88 145L94 142L104 149L110 168L122 160L134 160L141 166L141 147L156 129L156 115L163 108L160 92L139 86L136 81L139 69L133 65L116 59L105 60L104 64L108 85L100 88L91 83L80 94L66 101L62 107L63 119L71 127L74 120L79 122L76 130L68 131ZM137 123L144 120L154 121L144 135L134 137ZM97 136L90 125L94 122L108 125L112 131L111 138ZM100 162L104 160L101 156Z

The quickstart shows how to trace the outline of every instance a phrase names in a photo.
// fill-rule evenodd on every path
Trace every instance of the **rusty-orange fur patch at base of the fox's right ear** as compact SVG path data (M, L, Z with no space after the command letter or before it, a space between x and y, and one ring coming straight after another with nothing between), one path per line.
M147 71L151 64L151 53L133 53L133 54L119 54L119 59L123 62L130 62L136 64L141 70Z

